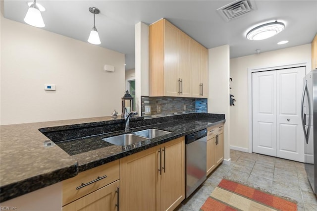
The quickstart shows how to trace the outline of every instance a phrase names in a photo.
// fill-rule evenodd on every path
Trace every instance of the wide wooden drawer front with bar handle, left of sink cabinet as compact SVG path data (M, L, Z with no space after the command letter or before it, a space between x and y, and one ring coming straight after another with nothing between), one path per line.
M63 206L118 180L119 169L119 160L115 160L64 180Z

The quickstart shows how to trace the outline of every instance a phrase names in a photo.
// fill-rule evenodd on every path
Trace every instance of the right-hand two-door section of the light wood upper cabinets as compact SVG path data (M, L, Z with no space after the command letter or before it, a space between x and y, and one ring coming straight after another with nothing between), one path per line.
M208 50L191 40L191 97L208 98Z

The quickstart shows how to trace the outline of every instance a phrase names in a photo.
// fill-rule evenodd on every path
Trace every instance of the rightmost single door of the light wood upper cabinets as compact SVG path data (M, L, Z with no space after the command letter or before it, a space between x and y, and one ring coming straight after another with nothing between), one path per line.
M208 98L208 49L201 46L200 50L200 78L203 89L201 98Z

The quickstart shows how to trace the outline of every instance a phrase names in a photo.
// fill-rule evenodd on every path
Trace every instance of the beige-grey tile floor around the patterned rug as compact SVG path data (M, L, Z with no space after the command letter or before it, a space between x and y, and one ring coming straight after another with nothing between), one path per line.
M230 150L230 165L221 164L176 211L199 211L223 177L298 202L299 211L317 211L317 197L309 184L304 163Z

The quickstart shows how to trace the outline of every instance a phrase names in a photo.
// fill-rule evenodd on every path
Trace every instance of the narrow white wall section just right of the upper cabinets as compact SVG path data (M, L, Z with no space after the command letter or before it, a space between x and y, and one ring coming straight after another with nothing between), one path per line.
M229 46L209 49L208 112L225 114L224 161L230 162Z

